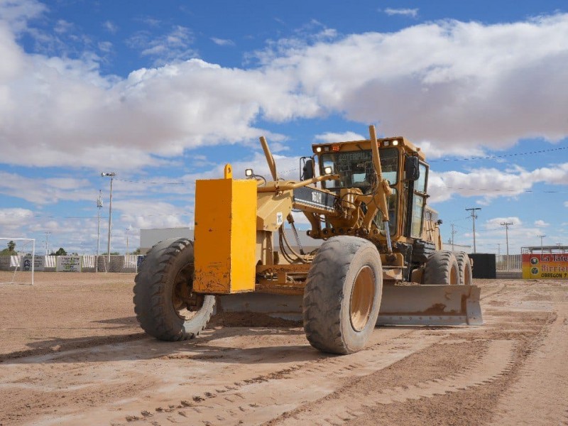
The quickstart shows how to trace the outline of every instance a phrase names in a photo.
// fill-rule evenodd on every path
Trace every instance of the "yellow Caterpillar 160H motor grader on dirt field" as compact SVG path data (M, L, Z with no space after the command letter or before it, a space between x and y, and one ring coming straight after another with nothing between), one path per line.
M250 169L236 180L231 165L222 179L197 180L195 241L156 244L136 275L141 327L182 340L216 308L301 314L312 346L349 354L377 324L482 324L471 261L442 250L441 221L426 205L425 155L405 138L377 139L374 126L369 134L313 145L300 180L279 178L263 137L271 180ZM305 253L293 212L319 248Z

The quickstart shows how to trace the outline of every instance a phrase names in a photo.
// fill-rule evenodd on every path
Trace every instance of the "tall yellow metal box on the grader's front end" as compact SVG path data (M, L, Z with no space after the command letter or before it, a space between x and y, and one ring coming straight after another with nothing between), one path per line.
M256 267L256 180L195 182L195 278L197 293L253 291Z

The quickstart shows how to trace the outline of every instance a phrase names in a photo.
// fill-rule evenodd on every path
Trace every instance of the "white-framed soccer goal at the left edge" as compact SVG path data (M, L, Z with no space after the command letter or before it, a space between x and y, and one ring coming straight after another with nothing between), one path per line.
M0 284L33 285L35 270L35 239L0 237L0 248L6 242L6 249L13 253L0 256Z

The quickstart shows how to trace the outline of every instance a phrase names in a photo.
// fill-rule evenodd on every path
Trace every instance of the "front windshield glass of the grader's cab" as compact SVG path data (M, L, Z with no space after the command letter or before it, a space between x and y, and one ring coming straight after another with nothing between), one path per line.
M383 148L379 153L383 178L395 185L398 180L398 150ZM324 153L320 158L321 170L332 168L332 173L340 176L340 180L325 182L327 189L359 187L364 193L371 189L374 176L373 154L371 150Z

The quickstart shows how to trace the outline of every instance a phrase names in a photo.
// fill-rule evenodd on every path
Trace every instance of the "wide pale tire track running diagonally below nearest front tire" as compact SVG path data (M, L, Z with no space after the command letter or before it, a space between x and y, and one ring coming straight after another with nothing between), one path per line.
M160 420L187 423L187 418L196 425L260 424L299 404L333 393L349 378L373 374L444 339L443 335L418 339L413 334L415 331L406 332L349 356L330 356L234 383L222 390L212 388L202 395L156 408L155 413L146 409L126 420L129 425L149 420L158 424Z

